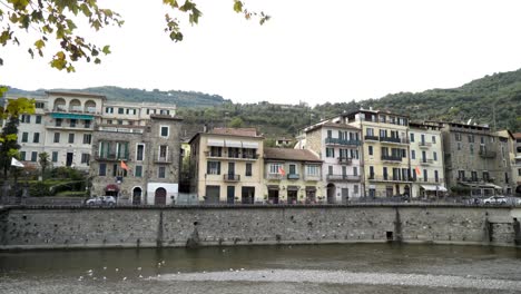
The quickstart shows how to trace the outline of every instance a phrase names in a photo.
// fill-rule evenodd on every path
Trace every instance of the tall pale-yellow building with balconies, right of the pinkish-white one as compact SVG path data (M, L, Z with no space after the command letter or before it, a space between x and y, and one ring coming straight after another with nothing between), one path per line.
M411 195L409 117L361 109L343 114L341 122L362 131L365 196Z

